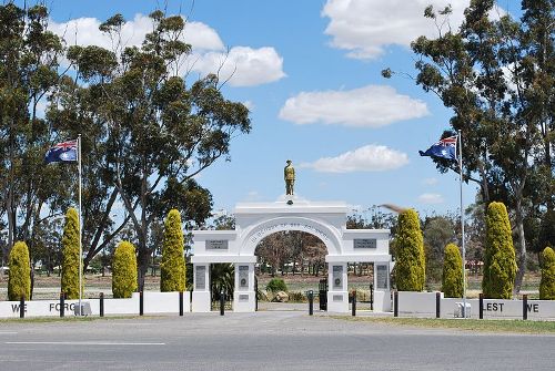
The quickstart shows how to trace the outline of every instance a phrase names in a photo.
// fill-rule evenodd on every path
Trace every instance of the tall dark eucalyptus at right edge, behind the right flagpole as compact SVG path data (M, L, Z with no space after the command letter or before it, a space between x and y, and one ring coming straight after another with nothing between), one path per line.
M522 4L524 17L517 21L496 12L493 0L472 0L456 30L448 23L450 7L438 12L428 7L424 16L436 23L437 38L412 43L416 83L453 111L450 125L462 132L465 179L480 184L485 204L503 200L513 212L515 291L526 270L524 223L534 207L532 195L542 184L544 197L535 202L552 205L554 184L547 159L553 151L553 110L547 107L553 106L554 75L547 56L553 55L554 2ZM456 164L436 164L442 172L458 172Z

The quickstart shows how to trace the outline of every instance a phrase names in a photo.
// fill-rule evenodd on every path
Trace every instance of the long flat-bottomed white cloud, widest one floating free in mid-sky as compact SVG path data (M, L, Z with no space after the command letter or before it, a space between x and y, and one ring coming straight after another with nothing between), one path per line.
M426 103L402 95L385 85L350 91L301 92L290 97L280 118L296 124L342 124L380 127L428 114Z

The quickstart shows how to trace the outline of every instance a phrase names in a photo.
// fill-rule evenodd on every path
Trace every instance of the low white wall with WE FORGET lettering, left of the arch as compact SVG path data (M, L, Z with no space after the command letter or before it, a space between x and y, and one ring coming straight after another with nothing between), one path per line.
M180 292L143 292L143 313L179 313ZM65 316L73 316L79 300L65 300ZM100 316L100 299L83 299L91 307L92 316ZM191 311L190 293L183 292L183 312ZM133 292L129 299L104 299L104 315L139 315L140 295ZM0 301L0 318L20 316L19 301ZM59 317L60 300L31 300L24 303L24 317Z

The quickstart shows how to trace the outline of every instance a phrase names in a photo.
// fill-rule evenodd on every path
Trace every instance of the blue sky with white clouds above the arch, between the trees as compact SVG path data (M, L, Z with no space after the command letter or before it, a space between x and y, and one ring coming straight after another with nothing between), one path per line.
M17 1L22 3L22 1ZM423 214L458 208L458 178L438 174L426 150L447 128L451 113L410 79L384 80L384 68L414 74L411 40L434 35L423 18L428 3L451 2L458 24L467 0L191 0L168 1L189 18L191 75L213 72L229 50L223 87L252 111L252 133L235 138L231 162L198 178L214 209L240 202L274 202L284 194L283 166L296 168L295 193L353 207L392 203ZM52 30L82 44L105 42L98 23L122 13L128 42L148 29L145 14L162 1L48 2ZM519 1L500 1L517 13ZM145 25L147 24L147 25ZM71 31L71 32L70 32ZM108 45L104 45L108 47ZM464 186L466 204L475 186Z

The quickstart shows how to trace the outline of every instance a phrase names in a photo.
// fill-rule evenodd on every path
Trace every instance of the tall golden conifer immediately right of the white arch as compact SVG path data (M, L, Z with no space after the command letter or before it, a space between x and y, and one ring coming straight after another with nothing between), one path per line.
M418 214L407 209L398 215L395 237L395 285L400 291L422 291L426 280L424 238Z

